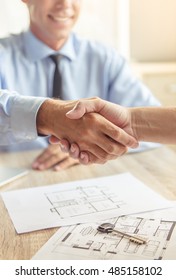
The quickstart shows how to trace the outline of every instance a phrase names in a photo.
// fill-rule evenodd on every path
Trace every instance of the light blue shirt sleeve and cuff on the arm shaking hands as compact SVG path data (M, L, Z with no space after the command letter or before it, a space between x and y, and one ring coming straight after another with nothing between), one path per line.
M28 142L38 137L36 116L44 100L0 90L0 145Z

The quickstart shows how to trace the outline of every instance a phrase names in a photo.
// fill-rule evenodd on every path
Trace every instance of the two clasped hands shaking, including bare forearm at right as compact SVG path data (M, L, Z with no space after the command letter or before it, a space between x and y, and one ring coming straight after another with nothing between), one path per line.
M103 164L137 148L139 141L175 144L175 118L174 107L126 108L97 97L48 99L39 109L37 127L80 163Z

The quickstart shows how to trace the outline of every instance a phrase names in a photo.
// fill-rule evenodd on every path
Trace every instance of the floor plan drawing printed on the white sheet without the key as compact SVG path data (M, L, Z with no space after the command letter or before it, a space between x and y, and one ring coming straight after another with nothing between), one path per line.
M51 203L51 212L57 213L60 218L98 212L103 214L104 211L120 209L126 205L120 195L106 186L78 186L74 190L47 193L45 196Z

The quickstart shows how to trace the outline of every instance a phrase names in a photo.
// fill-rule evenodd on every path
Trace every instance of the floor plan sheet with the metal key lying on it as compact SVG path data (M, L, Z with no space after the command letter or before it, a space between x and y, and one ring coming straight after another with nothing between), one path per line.
M137 245L113 233L97 231L98 224L60 228L33 259L176 259L176 208L122 216L110 220L123 232L148 239Z

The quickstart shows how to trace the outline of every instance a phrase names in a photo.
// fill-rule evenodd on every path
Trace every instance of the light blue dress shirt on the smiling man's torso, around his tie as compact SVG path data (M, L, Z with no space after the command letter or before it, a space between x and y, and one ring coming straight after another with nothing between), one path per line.
M74 33L58 52L43 44L30 31L0 39L2 88L23 95L51 97L55 65L49 56L55 53L62 55L59 68L63 99L98 96L123 106L160 105L149 89L135 78L116 50L80 39ZM45 139L40 138L37 142L35 145L28 143L25 148L47 146Z

